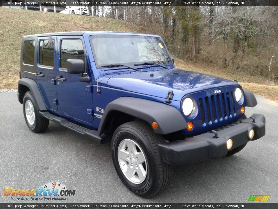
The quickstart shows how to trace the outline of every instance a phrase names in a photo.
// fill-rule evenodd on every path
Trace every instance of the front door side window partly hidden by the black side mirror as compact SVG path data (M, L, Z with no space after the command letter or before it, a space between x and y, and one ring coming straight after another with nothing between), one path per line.
M85 63L83 44L80 39L66 39L61 42L61 68L67 68L67 59L81 59Z

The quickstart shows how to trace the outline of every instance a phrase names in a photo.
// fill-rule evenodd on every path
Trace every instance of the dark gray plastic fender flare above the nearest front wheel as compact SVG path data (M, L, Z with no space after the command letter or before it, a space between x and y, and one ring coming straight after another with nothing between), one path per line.
M120 97L106 106L98 128L99 135L103 134L107 119L113 111L129 114L150 125L157 122L158 128L153 129L157 134L169 134L187 128L182 113L168 104L141 98Z

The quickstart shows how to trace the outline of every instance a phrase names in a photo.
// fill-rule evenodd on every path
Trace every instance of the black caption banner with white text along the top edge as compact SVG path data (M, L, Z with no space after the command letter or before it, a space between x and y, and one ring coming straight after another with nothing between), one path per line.
M16 0L16 2L19 4L21 2L22 6L278 6L278 0Z

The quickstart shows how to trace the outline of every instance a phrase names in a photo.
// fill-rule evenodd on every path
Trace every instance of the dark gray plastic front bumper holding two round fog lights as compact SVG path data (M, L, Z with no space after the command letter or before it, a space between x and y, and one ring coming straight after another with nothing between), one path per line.
M220 158L228 153L227 140L233 140L230 150L250 141L248 131L254 129L252 140L265 135L266 118L261 114L253 114L250 118L237 124L229 124L220 131L206 132L197 136L165 144L158 148L164 162L172 165L182 165L206 159ZM223 127L222 127L223 128Z

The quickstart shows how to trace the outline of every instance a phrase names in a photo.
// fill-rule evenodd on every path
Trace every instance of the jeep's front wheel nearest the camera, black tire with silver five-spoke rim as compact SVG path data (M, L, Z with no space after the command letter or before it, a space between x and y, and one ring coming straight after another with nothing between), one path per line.
M111 149L114 167L124 185L135 194L150 198L164 190L173 166L162 161L158 144L165 143L143 121L120 125L114 132Z

